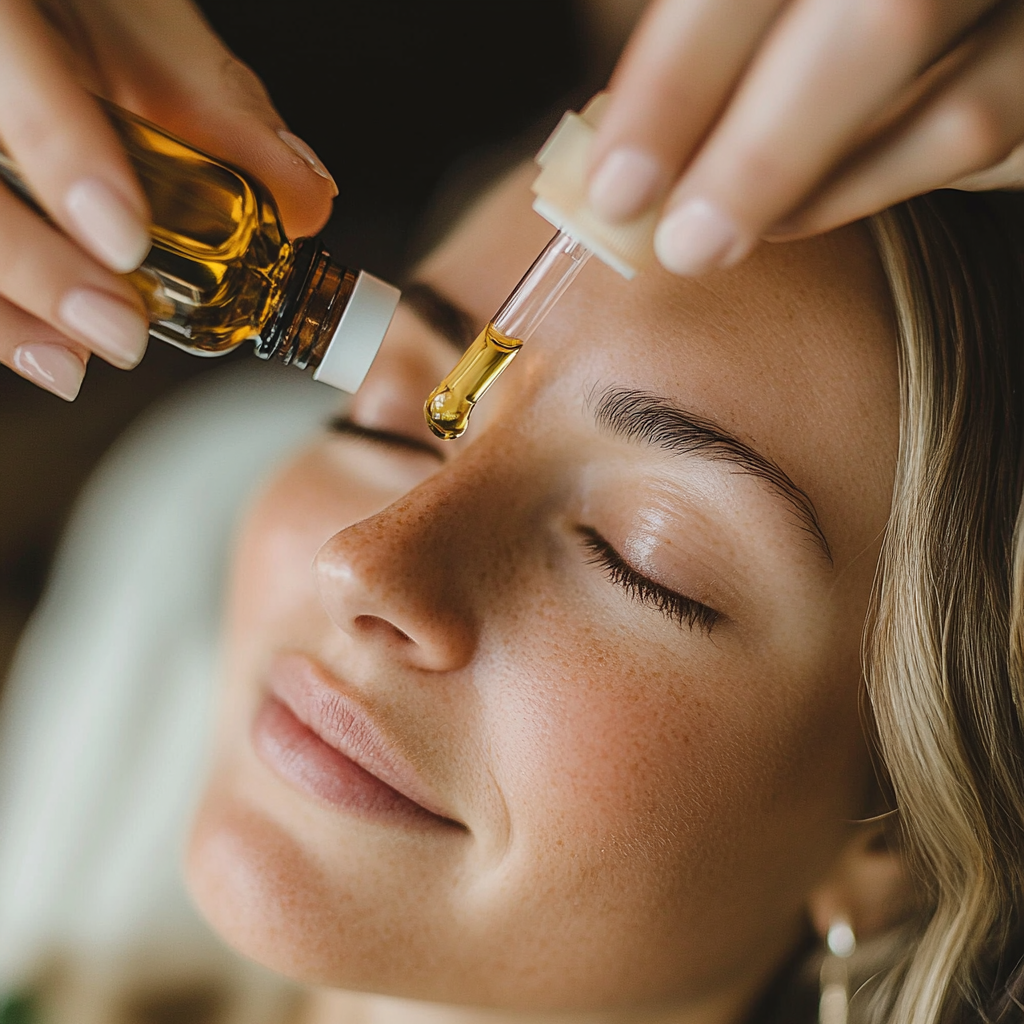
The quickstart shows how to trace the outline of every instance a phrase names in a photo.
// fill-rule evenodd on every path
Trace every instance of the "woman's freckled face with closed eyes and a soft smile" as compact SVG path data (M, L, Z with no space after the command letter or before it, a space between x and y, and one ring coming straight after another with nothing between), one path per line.
M477 327L550 237L528 177L418 274ZM866 233L696 282L591 261L455 442L421 410L457 349L413 306L249 514L193 889L332 986L727 1016L871 790L897 394Z

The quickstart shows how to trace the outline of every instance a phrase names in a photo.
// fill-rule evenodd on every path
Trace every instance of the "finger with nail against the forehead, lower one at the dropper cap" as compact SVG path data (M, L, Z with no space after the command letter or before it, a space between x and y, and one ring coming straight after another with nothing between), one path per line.
M985 5L799 0L674 189L655 234L663 265L694 274L741 259Z

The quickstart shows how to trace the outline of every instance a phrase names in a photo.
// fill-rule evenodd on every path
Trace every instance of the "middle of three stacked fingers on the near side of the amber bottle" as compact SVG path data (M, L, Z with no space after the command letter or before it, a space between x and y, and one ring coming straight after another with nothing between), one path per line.
M121 369L145 351L148 324L127 280L0 188L0 296Z

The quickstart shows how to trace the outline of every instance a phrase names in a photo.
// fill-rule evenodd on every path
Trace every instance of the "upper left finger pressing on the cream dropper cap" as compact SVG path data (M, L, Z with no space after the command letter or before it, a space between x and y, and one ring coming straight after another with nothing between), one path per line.
M660 0L610 83L589 199L608 220L665 198L785 0Z

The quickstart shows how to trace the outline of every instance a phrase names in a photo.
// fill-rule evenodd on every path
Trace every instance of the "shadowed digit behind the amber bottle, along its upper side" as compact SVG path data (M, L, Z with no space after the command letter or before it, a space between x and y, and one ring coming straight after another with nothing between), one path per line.
M315 233L337 185L288 131L257 76L190 3L139 0L137 7L128 24L94 40L97 61L122 69L112 98L254 175L273 195L290 237Z

